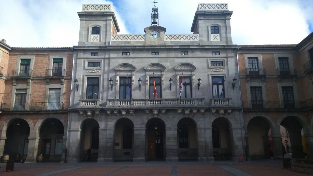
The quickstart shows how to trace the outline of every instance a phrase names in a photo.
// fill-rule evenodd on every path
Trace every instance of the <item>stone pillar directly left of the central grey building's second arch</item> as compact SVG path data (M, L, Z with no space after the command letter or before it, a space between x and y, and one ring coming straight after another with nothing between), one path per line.
M105 162L114 161L114 128L106 129Z

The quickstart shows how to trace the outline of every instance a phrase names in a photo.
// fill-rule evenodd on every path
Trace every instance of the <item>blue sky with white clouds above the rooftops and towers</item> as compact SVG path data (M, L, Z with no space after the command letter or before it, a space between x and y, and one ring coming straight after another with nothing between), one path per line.
M0 39L11 47L78 44L82 4L112 4L121 32L144 34L153 0L0 0ZM228 3L233 44L298 44L313 31L313 0L156 0L166 34L192 34L198 3Z

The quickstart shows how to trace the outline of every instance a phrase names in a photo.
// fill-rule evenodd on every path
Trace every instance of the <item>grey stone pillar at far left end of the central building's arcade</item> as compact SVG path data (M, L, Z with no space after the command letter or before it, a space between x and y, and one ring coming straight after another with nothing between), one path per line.
M68 163L80 162L80 129L69 129Z

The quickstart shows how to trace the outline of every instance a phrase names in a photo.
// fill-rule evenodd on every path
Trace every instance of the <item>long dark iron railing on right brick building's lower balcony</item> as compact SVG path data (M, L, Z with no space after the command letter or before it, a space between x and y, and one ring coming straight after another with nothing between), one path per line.
M309 107L307 101L243 101L247 109L300 109Z

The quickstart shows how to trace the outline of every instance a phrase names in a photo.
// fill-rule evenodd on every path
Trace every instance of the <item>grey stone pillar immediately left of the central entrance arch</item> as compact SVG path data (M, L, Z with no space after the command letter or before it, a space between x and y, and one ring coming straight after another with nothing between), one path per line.
M146 127L134 128L134 162L146 161Z

